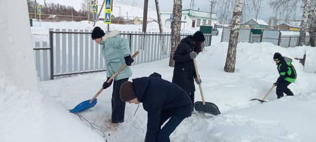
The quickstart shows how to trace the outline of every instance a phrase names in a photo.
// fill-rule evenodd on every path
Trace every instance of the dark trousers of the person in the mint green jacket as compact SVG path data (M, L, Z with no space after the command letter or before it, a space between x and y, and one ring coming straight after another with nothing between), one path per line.
M113 82L113 92L112 92L112 123L122 123L124 122L125 113L125 102L119 98L119 88L124 82L128 81L128 78L117 80Z

